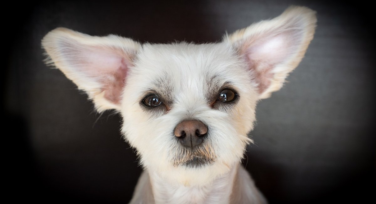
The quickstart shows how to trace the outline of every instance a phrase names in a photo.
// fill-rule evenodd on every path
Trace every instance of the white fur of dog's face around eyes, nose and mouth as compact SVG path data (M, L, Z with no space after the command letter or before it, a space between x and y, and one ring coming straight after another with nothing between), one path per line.
M231 47L227 44L146 44L138 56L148 60L135 62L137 69L131 70L127 81L132 86L125 86L123 94L127 103L123 103L122 109L129 111L121 114L122 132L139 152L141 164L149 172L159 172L169 182L201 186L239 163L250 141L247 132L255 120L257 95L254 88L249 88L253 85L247 70L233 56ZM233 111L221 112L207 105L204 90L206 79L212 76L218 76L222 84L231 81L238 87L244 100L240 100ZM139 101L149 88L158 89L150 87L150 82L159 78L168 78L173 84L170 94L175 96L174 107L159 117L150 117L149 113L139 111ZM180 121L188 119L207 124L211 132L208 140L217 155L213 166L186 169L174 167L170 162L170 151L176 145L173 129ZM229 126L229 123L233 124Z

